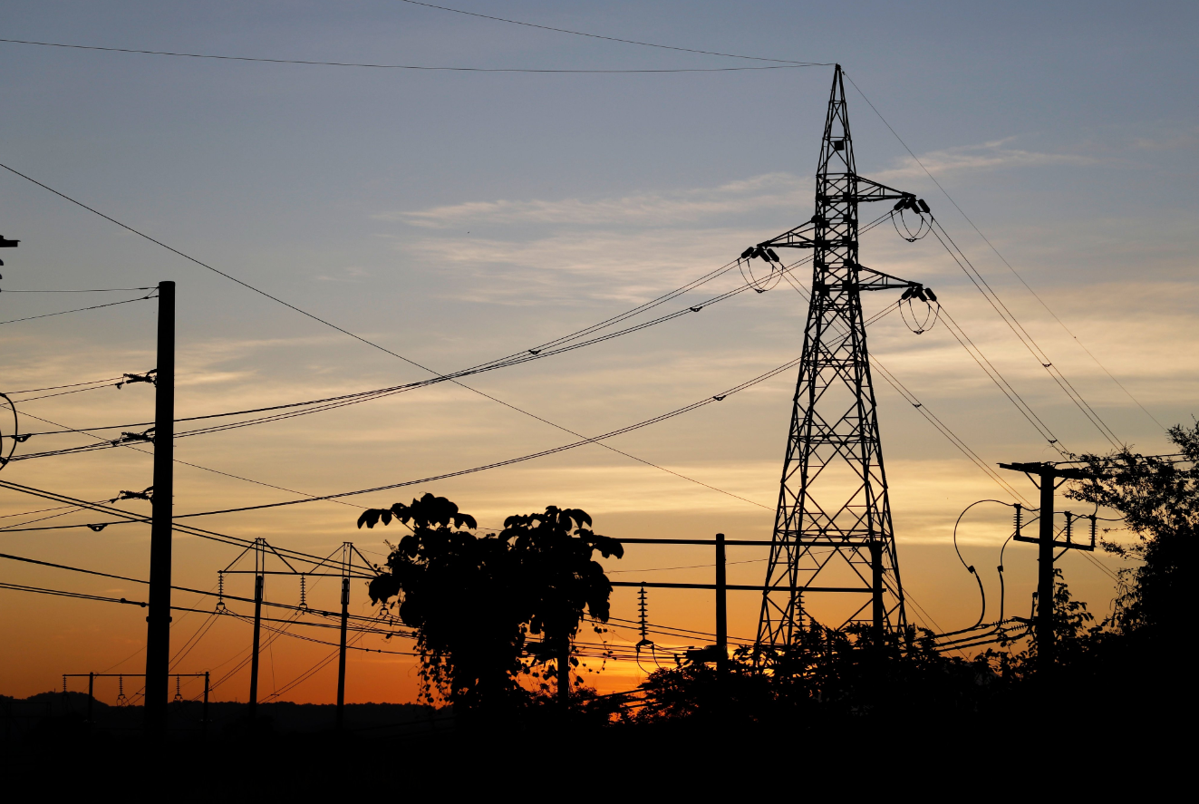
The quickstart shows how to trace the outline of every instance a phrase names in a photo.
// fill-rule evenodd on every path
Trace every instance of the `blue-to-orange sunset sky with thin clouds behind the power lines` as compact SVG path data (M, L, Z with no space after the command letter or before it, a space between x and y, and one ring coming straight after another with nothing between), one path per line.
M1145 454L1171 451L1159 425L1189 422L1199 412L1194 4L451 5L602 36L842 64L894 130L848 88L858 172L928 200L1054 366L1122 442ZM572 36L398 0L11 2L0 37L412 66L769 64ZM536 347L724 265L746 246L812 216L832 78L825 66L659 74L430 72L12 42L0 42L0 70L6 78L0 162L403 356L321 325L0 170L0 234L20 239L19 248L0 253L0 391L155 367L153 301L7 323L144 293L11 290L135 288L174 280L180 416L426 379L430 372L415 364L448 372ZM867 206L862 218L882 211ZM1067 449L1110 449L934 239L909 244L886 224L862 238L861 260L933 287ZM811 281L803 271L796 278L803 286ZM657 312L699 305L741 282L735 271L725 274ZM867 314L891 299L868 296ZM609 342L481 374L464 380L469 388L442 383L180 439L176 458L195 466L176 467L175 511L403 482L577 440L547 422L585 436L635 424L799 358L806 310L782 283ZM987 463L1056 456L944 325L914 335L892 314L870 326L869 347ZM344 503L192 522L320 554L354 541L381 560L384 540L394 541L400 530L356 530L361 509L433 492L483 526L555 504L586 510L597 532L617 538L723 532L766 539L795 378L789 370L721 403L609 442L669 473L589 445ZM909 617L934 630L964 628L977 618L980 602L951 544L954 521L975 500L1011 502L1012 496L881 378L875 384L899 564L918 606ZM139 384L30 401L19 409L28 414L22 419L28 432L53 428L31 416L89 427L147 421L152 406L152 389ZM18 455L86 440L37 437L19 445ZM147 454L114 449L13 462L0 479L107 500L120 490L151 485L150 468ZM1035 488L1023 475L1002 474L1035 503ZM19 516L52 505L0 490L0 516L6 517L0 527L61 514ZM144 502L121 505L149 514ZM1010 515L999 505L978 506L958 534L963 557L983 572L988 617L998 613L994 568ZM95 518L67 511L38 524ZM146 577L149 528L0 532L0 552ZM1030 545L1007 548L1008 614L1028 613L1035 552ZM215 588L217 570L236 554L225 545L177 536L175 582ZM760 583L765 554L765 548L730 548L729 581ZM1120 566L1114 557L1095 558L1108 571ZM711 563L706 548L631 546L622 560L605 566L619 572L614 580L710 582ZM1114 583L1108 572L1080 554L1066 556L1061 566L1092 611L1109 610ZM102 596L145 594L140 584L11 560L0 560L0 581ZM309 604L335 607L336 587L336 580L314 580ZM271 600L299 602L297 578L271 576L266 588ZM236 576L227 589L248 596L252 581ZM752 637L760 598L730 594L730 635ZM353 611L370 613L361 583L351 600ZM635 619L634 590L617 589L613 600L614 617ZM183 593L174 602L204 611L213 605L211 598ZM818 613L825 605L809 604ZM56 689L62 673L144 670L141 608L12 590L0 590L0 694ZM650 593L656 623L710 631L712 607L707 592ZM179 672L209 670L217 679L246 655L247 624L181 612L173 655L209 625ZM336 640L333 631L294 630ZM632 629L609 636L621 643L638 638ZM697 640L663 636L658 642L668 648L704 643ZM409 642L374 636L360 646L411 649ZM283 688L330 650L279 637L264 653L261 689ZM414 700L412 662L398 653L353 653L348 700ZM596 684L628 689L643 676L635 666L609 662ZM126 684L126 691L138 685ZM243 670L215 697L245 701L247 688ZM191 694L197 691L193 685ZM283 697L330 702L335 694L336 662ZM109 702L115 695L115 686L97 690Z

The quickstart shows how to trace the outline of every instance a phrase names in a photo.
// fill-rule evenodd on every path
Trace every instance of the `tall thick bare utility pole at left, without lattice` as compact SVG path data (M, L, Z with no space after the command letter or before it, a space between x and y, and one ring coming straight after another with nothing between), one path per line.
M158 368L155 382L153 497L146 616L145 726L167 728L170 679L170 547L175 481L175 283L158 283Z

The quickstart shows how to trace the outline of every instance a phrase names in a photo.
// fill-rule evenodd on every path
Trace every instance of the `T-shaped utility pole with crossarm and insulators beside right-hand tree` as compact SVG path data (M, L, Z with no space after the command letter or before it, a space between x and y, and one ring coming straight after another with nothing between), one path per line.
M1062 468L1055 463L1000 463L999 468L1023 472L1030 479L1035 475L1037 478L1035 482L1041 488L1041 512L1038 514L1041 520L1038 522L1037 538L1025 536L1017 530L1012 539L1037 545L1037 608L1036 617L1032 620L1032 634L1037 646L1037 661L1042 668L1048 668L1053 665L1054 658L1053 551L1055 547L1085 550L1087 552L1095 551L1093 516L1087 517L1091 521L1091 542L1089 545L1073 540L1070 528L1070 511L1066 511L1066 540L1058 541L1054 539L1054 492L1066 480L1093 480L1095 473L1084 469Z

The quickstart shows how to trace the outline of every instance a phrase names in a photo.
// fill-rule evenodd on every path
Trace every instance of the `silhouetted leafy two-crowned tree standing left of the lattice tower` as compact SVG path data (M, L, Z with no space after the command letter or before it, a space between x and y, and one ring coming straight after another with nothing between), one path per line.
M433 494L367 510L359 527L392 520L412 533L376 568L370 600L398 606L400 620L416 630L428 701L436 691L465 710L525 706L530 694L519 676L531 672L522 661L526 652L534 665L556 655L560 666L547 674L568 684L568 670L558 671L577 664L568 658L570 640L584 612L608 619L611 584L592 556L598 550L620 558L619 541L591 532L585 511L555 506L511 516L501 533L478 536L470 533L477 529L474 517ZM529 634L544 638L530 644Z

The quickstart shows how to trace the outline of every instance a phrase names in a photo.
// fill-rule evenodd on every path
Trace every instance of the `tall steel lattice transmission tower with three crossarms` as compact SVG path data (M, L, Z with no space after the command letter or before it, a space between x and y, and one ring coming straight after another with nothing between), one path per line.
M854 594L862 605L842 625L868 622L875 637L906 625L896 556L882 442L862 318L864 290L930 292L857 262L858 205L915 196L857 175L840 66L833 72L817 168L815 215L742 258L781 263L775 248L813 251L812 299L775 533L758 624L758 644L783 647L802 628L803 593ZM778 264L772 270L783 270ZM866 593L866 594L863 594ZM869 614L866 612L869 610Z

